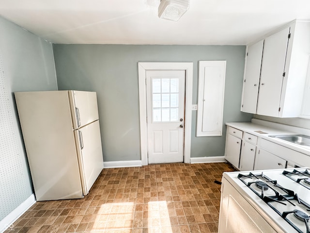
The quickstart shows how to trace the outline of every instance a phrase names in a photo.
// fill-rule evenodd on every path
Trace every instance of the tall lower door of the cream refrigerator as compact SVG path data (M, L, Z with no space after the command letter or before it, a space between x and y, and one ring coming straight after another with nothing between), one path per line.
M103 169L99 120L75 130L83 194L88 194Z

